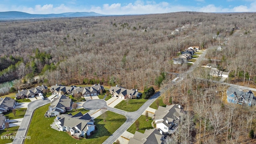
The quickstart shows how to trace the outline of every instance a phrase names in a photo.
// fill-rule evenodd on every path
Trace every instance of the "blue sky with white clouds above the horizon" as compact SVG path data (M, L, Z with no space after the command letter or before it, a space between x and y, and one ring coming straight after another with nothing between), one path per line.
M256 0L0 0L0 12L30 14L96 12L162 14L169 12L255 12Z

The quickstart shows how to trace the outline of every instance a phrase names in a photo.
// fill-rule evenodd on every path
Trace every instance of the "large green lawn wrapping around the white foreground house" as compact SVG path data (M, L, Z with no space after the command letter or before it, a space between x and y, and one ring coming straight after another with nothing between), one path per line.
M106 122L99 116L94 119L97 130L88 139L76 140L66 132L59 132L50 128L55 117L45 118L44 113L49 104L35 110L27 136L31 139L25 140L25 144L102 144L113 132L115 132L125 121L126 117L107 111Z

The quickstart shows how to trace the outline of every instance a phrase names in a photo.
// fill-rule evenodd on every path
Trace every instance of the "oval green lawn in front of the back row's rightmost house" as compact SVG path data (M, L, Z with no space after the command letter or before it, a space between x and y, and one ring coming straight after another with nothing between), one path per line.
M130 99L128 104L126 100L122 100L119 104L117 104L114 108L118 108L120 110L124 110L127 112L135 112L138 110L147 100L140 98L140 99Z

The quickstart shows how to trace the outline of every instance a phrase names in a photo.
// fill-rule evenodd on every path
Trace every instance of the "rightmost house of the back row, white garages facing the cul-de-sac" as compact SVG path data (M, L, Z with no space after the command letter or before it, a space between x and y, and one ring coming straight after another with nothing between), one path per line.
M140 96L142 96L142 93L138 92L138 90L129 90L126 88L123 88L122 86L112 86L109 89L109 93L113 94L113 96L118 97L118 98L122 98L122 99L132 99L132 98L139 98Z

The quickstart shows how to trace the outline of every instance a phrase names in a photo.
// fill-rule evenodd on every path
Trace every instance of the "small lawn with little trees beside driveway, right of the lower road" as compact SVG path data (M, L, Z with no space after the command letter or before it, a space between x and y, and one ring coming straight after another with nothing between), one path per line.
M140 122L140 126L139 126L139 130L137 130L138 132L141 132L141 133L144 133L146 129L152 129L152 125L151 125L151 122L153 122L153 120L148 117L148 122L146 121L146 116L144 115L141 115L139 118L138 118L138 121ZM133 123L130 128L127 129L128 132L132 133L132 134L135 134L135 131L136 131L136 126L135 124Z

